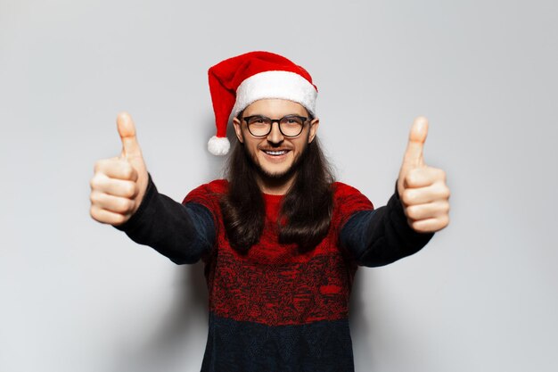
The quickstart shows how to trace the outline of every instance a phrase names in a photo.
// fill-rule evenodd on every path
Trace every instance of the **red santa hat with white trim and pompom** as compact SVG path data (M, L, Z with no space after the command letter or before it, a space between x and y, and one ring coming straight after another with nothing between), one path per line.
M283 98L303 105L316 116L317 87L299 65L279 54L250 52L209 68L209 92L215 112L217 136L209 139L209 153L225 155L230 144L226 126L250 103L264 98Z

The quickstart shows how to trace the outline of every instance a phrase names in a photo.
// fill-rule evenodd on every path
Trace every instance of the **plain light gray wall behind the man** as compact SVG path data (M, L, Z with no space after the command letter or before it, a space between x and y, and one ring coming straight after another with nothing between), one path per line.
M451 222L362 268L357 371L554 371L558 6L554 1L0 0L0 370L198 371L202 264L178 267L89 217L94 161L135 119L177 201L220 176L207 69L268 50L319 88L338 178L376 206L415 116ZM553 222L554 221L554 222Z

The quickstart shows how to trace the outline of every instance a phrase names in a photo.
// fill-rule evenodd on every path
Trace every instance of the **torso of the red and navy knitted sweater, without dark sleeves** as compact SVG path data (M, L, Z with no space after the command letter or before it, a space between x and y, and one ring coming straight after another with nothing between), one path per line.
M183 202L207 207L217 235L204 259L210 315L201 370L353 370L349 297L357 263L340 249L339 233L352 213L373 210L373 204L335 183L328 234L315 250L300 254L296 244L278 242L283 197L264 194L263 235L242 255L228 244L222 224L218 201L226 187L225 180L210 182Z

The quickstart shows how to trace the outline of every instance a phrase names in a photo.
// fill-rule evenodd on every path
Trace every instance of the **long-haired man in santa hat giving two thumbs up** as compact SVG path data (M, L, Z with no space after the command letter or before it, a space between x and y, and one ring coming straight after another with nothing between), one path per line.
M130 116L117 119L118 158L97 161L91 215L176 263L203 260L209 336L202 371L350 371L349 295L358 266L419 251L447 226L445 173L423 161L424 118L414 120L386 206L334 182L317 142L316 86L308 71L267 52L209 69L226 179L183 203L160 194Z

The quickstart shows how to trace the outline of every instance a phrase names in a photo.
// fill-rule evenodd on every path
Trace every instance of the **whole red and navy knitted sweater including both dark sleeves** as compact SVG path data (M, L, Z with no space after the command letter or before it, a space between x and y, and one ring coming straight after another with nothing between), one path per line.
M279 244L283 196L264 194L266 222L248 254L226 239L219 198L227 182L197 187L177 203L151 174L144 201L117 227L177 264L205 263L209 335L202 372L353 371L349 296L358 266L375 267L418 252L433 234L408 226L397 188L386 206L336 182L327 236L311 252Z

